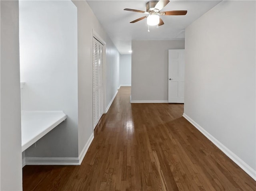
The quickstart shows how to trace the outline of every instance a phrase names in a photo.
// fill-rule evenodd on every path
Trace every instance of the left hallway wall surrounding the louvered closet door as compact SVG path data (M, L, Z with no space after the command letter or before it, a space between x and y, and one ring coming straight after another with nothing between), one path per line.
M86 1L73 3L78 11L78 154L93 133L92 36L93 30L106 42L106 106L119 86L119 52Z

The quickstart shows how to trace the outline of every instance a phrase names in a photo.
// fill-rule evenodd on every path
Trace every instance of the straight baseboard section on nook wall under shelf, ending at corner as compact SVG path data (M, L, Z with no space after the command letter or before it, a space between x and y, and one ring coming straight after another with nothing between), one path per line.
M78 157L26 157L26 165L79 165Z

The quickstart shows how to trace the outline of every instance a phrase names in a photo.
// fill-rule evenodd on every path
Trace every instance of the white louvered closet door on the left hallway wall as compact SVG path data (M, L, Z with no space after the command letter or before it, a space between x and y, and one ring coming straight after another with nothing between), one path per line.
M98 124L103 114L103 45L93 38L93 124Z

